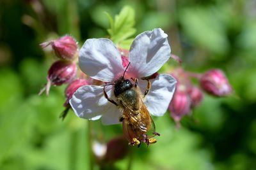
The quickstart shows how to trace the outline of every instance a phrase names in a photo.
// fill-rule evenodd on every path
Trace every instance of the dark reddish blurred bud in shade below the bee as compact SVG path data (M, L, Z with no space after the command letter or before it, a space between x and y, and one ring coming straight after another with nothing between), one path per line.
M107 144L107 153L105 162L113 163L117 160L124 159L128 153L127 141L124 137L117 137L111 139Z

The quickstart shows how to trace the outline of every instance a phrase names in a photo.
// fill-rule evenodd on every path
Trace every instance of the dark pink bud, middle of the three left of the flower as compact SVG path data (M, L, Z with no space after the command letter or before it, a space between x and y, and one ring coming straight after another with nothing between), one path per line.
M40 90L39 95L46 91L49 95L51 85L63 85L70 82L76 76L77 66L75 63L67 60L58 60L52 64L48 71L47 85Z

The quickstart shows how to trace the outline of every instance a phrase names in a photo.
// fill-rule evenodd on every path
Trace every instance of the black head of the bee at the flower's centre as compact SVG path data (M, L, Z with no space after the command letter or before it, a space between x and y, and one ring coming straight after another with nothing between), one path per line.
M132 88L131 81L121 77L120 79L115 81L114 94L115 94L115 96L118 96L122 92L125 92L126 90L129 90L131 88Z

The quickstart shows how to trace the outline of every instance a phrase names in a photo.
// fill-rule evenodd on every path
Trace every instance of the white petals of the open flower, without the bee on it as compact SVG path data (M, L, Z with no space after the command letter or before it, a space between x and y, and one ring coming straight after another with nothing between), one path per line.
M170 58L167 34L162 29L154 29L139 34L129 52L129 69L126 78L139 78L138 86L145 91L145 76L156 73ZM88 76L104 82L112 82L124 74L120 52L114 43L106 38L87 39L79 52L79 66ZM152 82L152 88L145 97L145 104L151 115L162 116L172 99L176 80L169 74L159 74ZM113 85L105 90L115 100ZM102 118L103 124L118 124L122 115L118 107L103 95L103 87L86 85L80 87L70 99L76 115L89 120Z

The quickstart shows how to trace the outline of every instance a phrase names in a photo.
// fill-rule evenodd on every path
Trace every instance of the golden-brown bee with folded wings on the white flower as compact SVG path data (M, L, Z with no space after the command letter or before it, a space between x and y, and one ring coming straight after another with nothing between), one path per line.
M143 102L150 90L151 82L148 79L143 79L147 80L147 89L142 94L140 87L138 87L137 78L131 78L134 84L131 80L124 78L129 65L130 63L125 68L123 76L118 78L115 83L108 84L114 85L116 101L108 97L105 91L106 85L104 85L103 92L106 99L122 111L120 122L122 122L123 132L129 141L129 145L138 145L139 147L141 143L146 143L148 146L151 143L156 143L154 136L160 136L156 132L154 121Z

